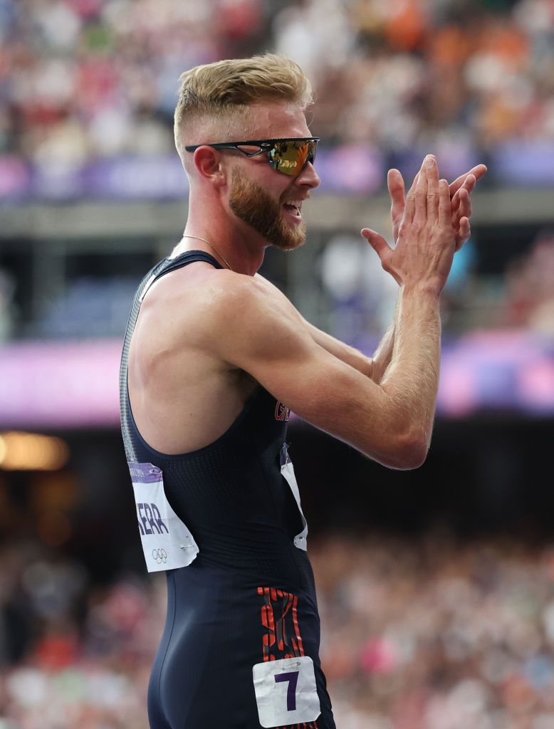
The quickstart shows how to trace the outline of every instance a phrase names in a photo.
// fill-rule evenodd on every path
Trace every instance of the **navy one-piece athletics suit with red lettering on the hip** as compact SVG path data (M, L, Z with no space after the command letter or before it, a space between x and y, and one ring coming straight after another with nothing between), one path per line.
M258 386L225 434L205 448L176 456L150 448L133 420L128 352L142 298L155 280L195 261L222 268L209 254L190 251L165 258L144 277L133 300L120 372L127 460L161 469L167 501L199 549L190 565L166 572L167 617L149 683L150 727L273 726L268 714L260 723L254 666L261 664L265 675L271 661L294 658L300 665L300 659L309 657L319 716L283 720L299 708L294 672L265 679L286 682L276 684L284 691L284 706L269 715L278 715L275 726L281 728L335 729L319 662L313 572L305 549L294 544L303 519L281 475L288 410Z

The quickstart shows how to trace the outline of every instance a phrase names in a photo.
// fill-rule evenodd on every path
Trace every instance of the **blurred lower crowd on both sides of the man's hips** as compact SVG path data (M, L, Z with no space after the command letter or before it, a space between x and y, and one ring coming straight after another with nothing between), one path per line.
M328 536L311 546L340 729L550 729L554 545ZM165 580L94 585L35 545L0 555L2 729L147 729Z

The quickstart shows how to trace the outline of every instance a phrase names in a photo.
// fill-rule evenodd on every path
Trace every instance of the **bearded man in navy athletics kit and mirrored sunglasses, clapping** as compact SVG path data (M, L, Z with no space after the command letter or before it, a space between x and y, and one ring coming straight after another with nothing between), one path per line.
M440 292L485 168L449 190L428 156L406 198L389 174L396 246L362 234L399 300L369 359L257 274L267 246L304 242L303 203L319 184L310 103L308 79L276 55L182 76L175 138L189 217L139 286L121 370L144 554L168 580L153 729L335 728L289 408L387 467L418 467L429 447Z

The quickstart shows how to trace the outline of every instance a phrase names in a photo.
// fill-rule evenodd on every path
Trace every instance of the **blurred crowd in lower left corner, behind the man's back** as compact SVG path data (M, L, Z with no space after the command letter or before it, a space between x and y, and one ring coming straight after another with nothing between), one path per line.
M31 542L5 547L0 564L1 729L148 729L163 582L98 585Z

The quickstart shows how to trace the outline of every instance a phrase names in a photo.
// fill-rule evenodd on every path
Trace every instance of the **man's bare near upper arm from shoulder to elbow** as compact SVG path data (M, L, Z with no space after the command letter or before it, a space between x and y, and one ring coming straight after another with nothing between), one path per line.
M222 320L222 359L305 421L381 462L390 460L395 424L381 387L316 343L292 305L254 297L237 309L227 309Z

